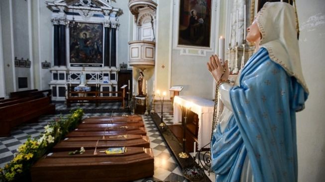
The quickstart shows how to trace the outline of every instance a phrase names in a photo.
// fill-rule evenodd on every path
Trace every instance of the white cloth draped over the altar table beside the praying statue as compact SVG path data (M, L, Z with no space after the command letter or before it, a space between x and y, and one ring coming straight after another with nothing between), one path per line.
M182 121L182 109L184 106L192 102L190 110L199 117L199 132L198 132L198 149L210 143L211 128L215 102L198 96L182 95L174 97L174 123ZM210 148L208 145L206 148Z

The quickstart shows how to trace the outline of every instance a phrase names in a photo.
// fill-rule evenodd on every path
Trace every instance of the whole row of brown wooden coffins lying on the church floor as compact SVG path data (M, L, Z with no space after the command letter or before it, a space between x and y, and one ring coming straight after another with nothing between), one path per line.
M138 115L86 118L31 168L33 182L128 182L153 172L150 141Z

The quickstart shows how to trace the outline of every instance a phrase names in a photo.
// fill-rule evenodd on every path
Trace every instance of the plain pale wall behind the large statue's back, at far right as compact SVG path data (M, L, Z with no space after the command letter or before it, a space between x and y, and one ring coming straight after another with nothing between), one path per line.
M324 182L325 166L325 1L296 0L300 54L310 94L297 113L298 181Z

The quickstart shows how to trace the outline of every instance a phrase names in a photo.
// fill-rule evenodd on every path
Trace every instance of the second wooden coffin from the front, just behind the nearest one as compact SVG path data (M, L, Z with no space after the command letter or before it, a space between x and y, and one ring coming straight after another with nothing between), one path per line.
M98 144L97 144L98 141ZM62 151L75 151L80 147L84 147L86 150L95 149L107 149L109 147L143 147L150 148L150 141L148 136L142 135L117 135L106 136L103 139L102 136L97 137L74 137L66 138L60 143L55 145L52 149L53 152Z

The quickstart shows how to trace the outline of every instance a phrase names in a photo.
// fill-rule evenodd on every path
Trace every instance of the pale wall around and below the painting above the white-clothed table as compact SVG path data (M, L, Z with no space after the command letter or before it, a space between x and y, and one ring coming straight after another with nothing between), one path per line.
M226 3L223 1L212 1L210 48L198 48L177 45L179 5L174 3L171 86L183 86L180 95L196 95L207 99L214 97L215 85L207 69L207 62L211 55L217 53L218 37L220 35L225 37L223 25L225 17L220 16L226 13L225 6Z

